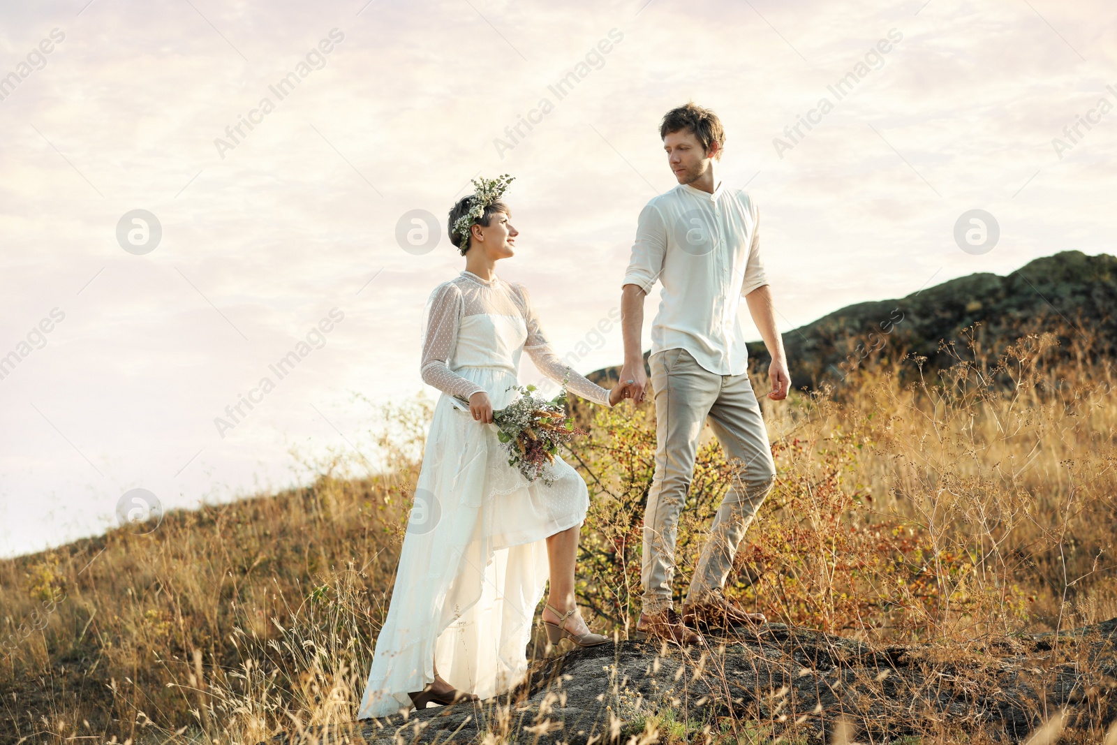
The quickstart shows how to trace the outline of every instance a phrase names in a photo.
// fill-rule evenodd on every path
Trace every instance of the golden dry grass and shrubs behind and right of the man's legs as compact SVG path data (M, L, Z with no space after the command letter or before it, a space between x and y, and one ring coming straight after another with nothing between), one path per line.
M777 484L728 593L774 620L868 640L1117 615L1110 367L1046 362L1053 338L1024 337L996 361L958 355L934 384L908 360L915 383L878 366L789 402L762 398ZM766 390L760 376L754 388ZM593 493L582 602L631 625L655 422L601 411L595 431L575 452ZM679 526L677 600L734 475L708 441Z

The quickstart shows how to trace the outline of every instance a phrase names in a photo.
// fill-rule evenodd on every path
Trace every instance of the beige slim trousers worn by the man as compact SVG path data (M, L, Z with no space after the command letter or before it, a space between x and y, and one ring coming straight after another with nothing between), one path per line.
M738 469L703 546L686 602L725 585L733 557L775 480L760 403L747 373L718 375L686 350L657 352L648 360L656 395L656 475L643 516L643 613L671 606L675 533L694 476L703 424L710 427Z

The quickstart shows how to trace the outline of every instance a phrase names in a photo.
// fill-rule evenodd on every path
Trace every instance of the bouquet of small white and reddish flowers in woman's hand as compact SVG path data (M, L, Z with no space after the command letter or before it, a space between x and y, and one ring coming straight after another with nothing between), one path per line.
M558 446L570 442L575 434L584 434L566 417L566 388L547 400L536 393L534 385L509 390L519 391L518 399L504 409L493 412L497 439L508 452L508 465L515 466L528 481L542 478L547 486L552 480L544 475L546 466L554 462Z

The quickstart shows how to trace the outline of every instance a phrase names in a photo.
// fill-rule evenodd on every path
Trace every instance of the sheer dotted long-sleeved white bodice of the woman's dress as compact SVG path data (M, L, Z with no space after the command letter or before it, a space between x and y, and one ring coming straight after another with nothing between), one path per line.
M551 350L523 285L462 271L431 294L421 367L428 384L468 400L484 389L462 376L462 367L499 367L515 375L524 351L547 378L565 380L572 393L609 405L608 390L564 364ZM504 403L493 401L495 408Z

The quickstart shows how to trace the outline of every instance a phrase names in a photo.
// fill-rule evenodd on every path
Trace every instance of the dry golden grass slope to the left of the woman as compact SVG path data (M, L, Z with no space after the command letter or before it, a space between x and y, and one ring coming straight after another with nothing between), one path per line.
M428 409L397 412L386 474L333 460L306 488L0 562L0 743L256 743L293 701L328 717L367 674L346 665L386 613Z

